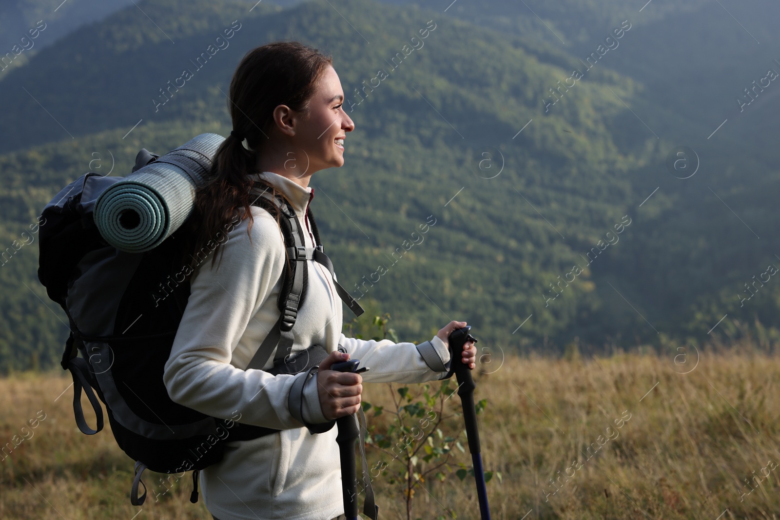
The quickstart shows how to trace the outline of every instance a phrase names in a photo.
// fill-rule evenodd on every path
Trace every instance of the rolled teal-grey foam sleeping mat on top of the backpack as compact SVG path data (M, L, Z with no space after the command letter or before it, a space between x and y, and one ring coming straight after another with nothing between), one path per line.
M202 133L101 193L94 221L103 239L127 253L159 246L190 217L195 189L224 140Z

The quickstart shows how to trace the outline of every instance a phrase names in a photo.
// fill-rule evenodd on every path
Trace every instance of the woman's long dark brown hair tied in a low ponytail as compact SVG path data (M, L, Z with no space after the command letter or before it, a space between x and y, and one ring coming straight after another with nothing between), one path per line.
M190 217L191 267L203 261L197 260L197 252L212 249L206 247L208 242L216 242L211 259L214 266L222 245L219 236L235 227L238 218L249 218L246 232L251 240L254 219L250 204L255 196L250 196L250 188L255 181L250 174L256 172L261 140L270 139L275 125L273 111L286 104L307 114L317 81L332 63L329 55L299 41L275 41L244 55L230 82L228 108L234 133L246 138L250 150L239 137L228 136L215 153L206 182L196 190ZM283 196L273 186L271 191L275 197ZM277 222L278 218L277 214Z

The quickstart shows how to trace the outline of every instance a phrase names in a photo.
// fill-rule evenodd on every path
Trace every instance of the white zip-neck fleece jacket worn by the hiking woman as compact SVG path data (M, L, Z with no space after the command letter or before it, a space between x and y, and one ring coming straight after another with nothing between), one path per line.
M305 228L306 246L314 247L307 218L314 189L272 172L254 175L287 196ZM284 239L275 219L259 207L252 207L252 215L251 243L246 219L227 240L215 237L223 241L222 265L211 267L211 253L193 272L190 299L165 364L165 386L173 401L199 412L222 419L240 414L240 423L280 430L254 440L228 437L222 462L201 472L205 504L217 518L329 520L344 512L337 426L313 434L291 415L290 387L306 373L266 372L273 366L273 355L265 370L244 370L279 317L276 302L285 261ZM330 272L313 260L306 264L309 285L293 327L293 351L318 343L332 352L340 344L350 359L371 368L362 374L365 383L422 383L445 377L446 372L427 365L413 343L346 338L342 302ZM449 368L444 341L434 336L430 342ZM304 386L307 423L327 422L316 378L310 377Z

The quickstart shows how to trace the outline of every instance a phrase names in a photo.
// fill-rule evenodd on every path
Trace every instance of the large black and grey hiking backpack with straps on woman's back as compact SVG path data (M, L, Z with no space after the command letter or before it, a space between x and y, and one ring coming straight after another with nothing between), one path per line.
M199 139L204 136L207 138ZM202 179L211 168L219 142L224 140L221 136L215 140L214 136L197 136L162 157L140 150L133 174L153 166L157 172L168 168L186 173L194 184L196 179L190 174L201 175ZM102 430L104 419L99 398L105 405L117 444L136 461L130 502L144 504L147 488L140 477L148 468L182 475L193 470L190 501L194 504L198 472L222 459L222 440L228 437L225 432L230 430L230 440L249 440L278 430L239 423L240 416L236 417L235 413L231 419L207 416L168 397L163 371L190 295L190 281L183 276L180 262L197 223L187 218L184 225L158 246L144 252L117 249L101 236L94 221L94 210L101 193L121 180L121 177L88 172L62 189L44 207L37 275L49 298L62 306L69 319L70 334L61 365L73 376L73 413L79 430L87 435ZM308 270L305 264L298 264L314 260L328 268L334 281L335 274L331 260L324 254L311 210L308 216L315 248L304 247L302 228L293 208L283 197L276 202L258 196L253 204L273 216L278 211L291 261L282 271L280 317L247 368L261 369L278 346L274 368L269 372L312 371L327 356L321 345L304 350L301 354L305 356L289 354L297 310L307 292ZM360 316L363 308L338 281L335 288L350 310ZM82 391L97 418L94 429L84 419ZM297 389L293 387L290 405L300 403L302 391L303 384ZM335 421L316 425L316 430L313 425L307 426L321 433L330 430L333 424ZM140 497L139 486L144 487Z

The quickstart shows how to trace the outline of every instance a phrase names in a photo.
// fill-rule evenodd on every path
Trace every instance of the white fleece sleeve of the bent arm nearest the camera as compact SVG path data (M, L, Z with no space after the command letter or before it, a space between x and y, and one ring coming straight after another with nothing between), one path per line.
M230 419L239 412L241 423L300 428L301 414L296 413L299 419L291 414L288 397L296 379L307 373L274 376L231 364L233 349L275 287L285 261L275 219L261 208L251 209L251 242L243 221L223 238L219 268L211 267L210 254L193 273L163 380L173 401L209 416ZM213 250L215 242L207 246Z

